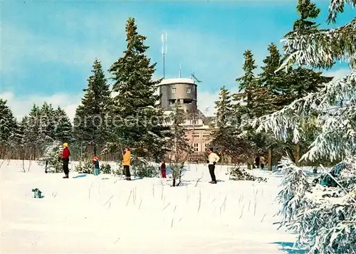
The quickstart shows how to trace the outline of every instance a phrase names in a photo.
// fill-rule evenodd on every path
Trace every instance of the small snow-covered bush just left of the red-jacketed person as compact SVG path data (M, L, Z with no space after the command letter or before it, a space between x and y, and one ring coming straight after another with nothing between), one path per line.
M62 145L61 142L55 141L47 144L43 152L43 157L38 159L39 163L45 166L46 173L63 172L63 162L61 159Z

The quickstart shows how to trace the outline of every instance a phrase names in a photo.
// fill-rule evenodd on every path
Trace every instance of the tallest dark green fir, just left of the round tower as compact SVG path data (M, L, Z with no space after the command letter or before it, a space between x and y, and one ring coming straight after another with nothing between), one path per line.
M113 99L112 115L121 117L115 127L115 142L134 147L142 154L162 157L167 152L164 137L169 127L163 127L163 110L157 106L160 95L155 95L160 80L152 80L155 63L145 54L146 37L137 33L135 18L126 22L127 49L110 68Z

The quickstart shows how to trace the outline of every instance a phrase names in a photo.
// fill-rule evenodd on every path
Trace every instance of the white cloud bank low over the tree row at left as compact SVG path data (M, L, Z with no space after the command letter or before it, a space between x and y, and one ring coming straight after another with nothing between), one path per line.
M0 98L7 100L7 105L11 108L14 116L21 120L24 115L28 115L33 104L41 106L43 102L50 103L53 107L61 107L68 114L70 120L75 117L75 109L80 104L82 95L68 95L64 93L57 93L50 96L41 95L23 95L16 96L12 92L0 93Z

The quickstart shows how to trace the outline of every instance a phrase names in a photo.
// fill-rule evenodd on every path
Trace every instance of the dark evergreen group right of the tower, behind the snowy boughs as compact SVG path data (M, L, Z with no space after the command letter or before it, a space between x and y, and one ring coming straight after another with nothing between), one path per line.
M293 32L308 34L315 32L318 24L311 21L320 13L310 1L299 1L297 5L300 18L293 25ZM286 34L288 36L289 33ZM298 164L300 153L306 152L315 138L318 129L313 121L303 126L303 141L294 144L291 135L286 142L274 138L273 132L256 132L253 120L268 115L310 92L323 88L333 78L325 77L320 71L303 65L278 70L289 55L282 55L274 43L268 45L268 56L263 60L261 73L256 75L258 66L250 50L244 52L244 74L236 78L239 92L231 94L224 86L219 92L216 104L216 121L211 129L211 146L235 163L253 164L255 157L268 158L272 164L286 156L295 158ZM225 155L225 156L224 156ZM318 163L318 162L315 162Z

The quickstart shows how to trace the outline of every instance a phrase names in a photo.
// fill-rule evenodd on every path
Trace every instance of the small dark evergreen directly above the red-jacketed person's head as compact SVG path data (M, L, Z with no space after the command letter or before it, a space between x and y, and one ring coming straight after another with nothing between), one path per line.
M61 107L54 112L54 122L56 123L54 138L62 143L73 141L73 128L70 119Z

